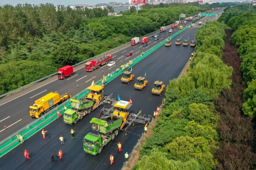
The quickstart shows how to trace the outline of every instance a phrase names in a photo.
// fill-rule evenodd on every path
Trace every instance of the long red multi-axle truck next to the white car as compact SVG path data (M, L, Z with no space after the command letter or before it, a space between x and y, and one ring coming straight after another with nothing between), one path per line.
M93 71L94 69L100 68L102 65L109 63L112 59L111 54L107 54L96 61L89 61L85 63L86 71Z

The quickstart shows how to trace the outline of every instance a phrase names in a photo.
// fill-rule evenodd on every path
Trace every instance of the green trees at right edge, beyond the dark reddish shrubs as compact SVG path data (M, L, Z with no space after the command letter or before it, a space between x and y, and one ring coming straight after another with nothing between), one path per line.
M243 113L253 118L256 117L256 10L248 11L246 7L227 10L222 20L235 31L230 41L238 47L242 58L240 69L248 86L244 91Z

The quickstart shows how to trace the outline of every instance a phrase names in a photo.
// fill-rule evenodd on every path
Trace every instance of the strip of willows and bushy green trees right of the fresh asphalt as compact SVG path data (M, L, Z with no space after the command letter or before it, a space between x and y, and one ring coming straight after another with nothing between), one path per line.
M163 116L142 146L141 160L134 169L216 168L220 118L213 99L229 88L233 70L221 60L224 28L224 24L211 22L197 31L195 60L184 76L169 83Z

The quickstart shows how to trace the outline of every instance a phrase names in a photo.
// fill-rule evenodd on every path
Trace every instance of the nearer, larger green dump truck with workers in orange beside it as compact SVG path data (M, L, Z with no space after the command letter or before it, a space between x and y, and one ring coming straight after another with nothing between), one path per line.
M92 129L98 131L99 134L88 133L84 137L83 147L87 153L97 155L118 134L123 117L112 114L101 119L93 118L90 122Z

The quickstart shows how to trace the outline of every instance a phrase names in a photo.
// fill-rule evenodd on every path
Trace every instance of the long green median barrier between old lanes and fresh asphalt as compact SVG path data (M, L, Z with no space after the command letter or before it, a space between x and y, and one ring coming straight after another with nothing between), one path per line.
M175 34L173 34L172 36L168 37L167 39L174 38L178 34L182 33L185 30L187 30L190 27L190 25L191 24L187 25L182 30L176 32ZM103 82L104 85L107 84L108 82L112 81L113 79L115 79L117 76L121 75L125 70L130 69L133 65L135 65L138 62L140 62L143 58L147 57L149 54L151 54L152 52L154 52L158 48L160 48L162 45L165 44L165 42L166 42L166 39L164 39L161 43L159 43L159 44L155 45L154 47L151 47L150 49L145 51L144 55L139 55L138 57L135 57L132 60L133 63L131 65L129 65L127 68L120 69L120 71L118 71L118 72L116 72L116 71L111 72L110 73L111 76L105 82ZM99 81L95 82L94 84L101 85L101 83L102 83L102 79L100 79ZM86 88L86 89L82 90L81 92L79 92L78 94L74 95L73 97L75 97L77 99L81 99L81 98L85 97L88 94L88 91L89 90ZM57 119L57 114L56 113L57 113L57 111L61 111L61 113L63 113L64 105L67 108L70 108L71 104L69 103L69 101L70 101L70 99L65 101L65 102L63 102L60 106L55 107L55 108L49 110L47 113L45 113L44 116L40 117L37 120L34 120L33 122L31 122L27 126L25 126L22 129L20 129L19 131L13 133L8 138L2 140L0 142L0 157L3 156L5 153L7 153L8 151L11 150L11 149L9 149L9 147L13 146L13 148L14 148L17 145L19 145L19 142L17 142L18 139L14 139L14 138L16 138L16 134L17 133L20 134L21 136L23 136L24 140L27 140L29 137L34 135L34 133L38 132L44 126L48 125L49 123L51 123L52 121Z

